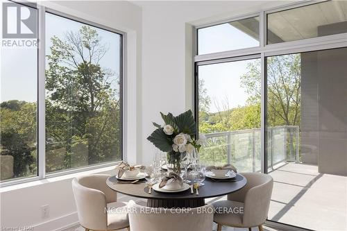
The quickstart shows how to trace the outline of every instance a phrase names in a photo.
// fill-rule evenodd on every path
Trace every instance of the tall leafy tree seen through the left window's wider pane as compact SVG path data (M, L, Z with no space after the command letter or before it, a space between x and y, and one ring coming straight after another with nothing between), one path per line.
M46 146L52 160L64 153L64 166L53 162L51 170L119 158L119 89L112 87L119 85L119 76L100 65L108 46L90 26L62 38L53 36L51 42L46 69Z

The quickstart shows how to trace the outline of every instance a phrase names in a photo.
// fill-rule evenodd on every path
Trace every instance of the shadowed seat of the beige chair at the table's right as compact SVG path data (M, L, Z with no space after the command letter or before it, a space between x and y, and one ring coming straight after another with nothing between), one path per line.
M212 205L215 208L213 221L221 225L243 227L244 203L232 200L219 200Z

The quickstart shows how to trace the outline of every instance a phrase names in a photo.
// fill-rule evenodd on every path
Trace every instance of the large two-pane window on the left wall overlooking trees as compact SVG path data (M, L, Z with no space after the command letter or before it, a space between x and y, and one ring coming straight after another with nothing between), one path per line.
M122 33L44 8L6 3L2 185L121 160ZM15 17L19 12L20 18L28 17L21 24ZM37 15L44 19L39 21ZM33 25L41 30L33 30ZM37 46L39 38L44 47ZM13 181L19 178L24 179Z

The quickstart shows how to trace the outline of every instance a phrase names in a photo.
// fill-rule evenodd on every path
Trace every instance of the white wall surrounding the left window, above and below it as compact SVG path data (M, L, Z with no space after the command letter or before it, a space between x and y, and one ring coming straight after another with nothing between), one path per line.
M142 10L126 1L56 1L44 6L127 33L126 144L130 162L137 162L138 120L141 119ZM111 168L108 168L111 169ZM104 169L105 171L107 169ZM101 170L49 178L1 188L1 227L34 226L34 230L56 230L78 221L71 179ZM107 171L114 173L112 171ZM49 219L42 219L41 206L49 205Z

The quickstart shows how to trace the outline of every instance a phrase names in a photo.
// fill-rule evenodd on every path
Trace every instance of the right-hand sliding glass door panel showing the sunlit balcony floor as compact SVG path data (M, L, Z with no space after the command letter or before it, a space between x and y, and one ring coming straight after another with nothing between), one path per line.
M269 220L347 228L347 48L266 58Z

